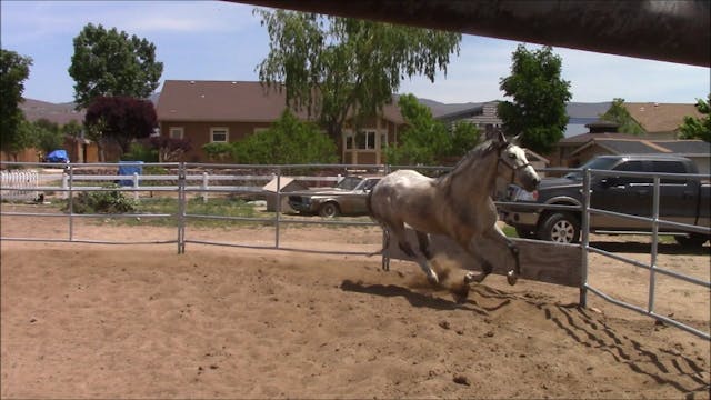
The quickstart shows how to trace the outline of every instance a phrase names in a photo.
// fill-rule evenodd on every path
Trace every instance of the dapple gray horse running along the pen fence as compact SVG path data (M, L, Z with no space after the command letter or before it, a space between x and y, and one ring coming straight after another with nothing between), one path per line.
M528 191L534 190L540 178L525 158L523 150L509 142L499 132L491 140L475 147L448 173L428 178L412 170L398 170L385 176L368 197L370 216L384 230L384 247L394 234L400 249L437 284L439 278L432 270L429 233L447 236L482 267L482 273L468 272L464 283L481 282L492 271L479 247L481 238L494 244L487 251L510 251L515 267L507 273L510 284L515 284L521 273L519 250L497 227L497 208L491 199L497 179L517 183ZM405 224L418 237L422 257L415 256L405 236Z

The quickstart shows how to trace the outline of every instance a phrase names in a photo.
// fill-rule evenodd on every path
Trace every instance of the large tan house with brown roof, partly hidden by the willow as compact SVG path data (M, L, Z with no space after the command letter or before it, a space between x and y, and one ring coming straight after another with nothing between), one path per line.
M184 161L204 162L208 156L202 146L230 143L258 134L281 117L286 103L283 90L267 88L260 82L167 80L157 107L159 130L162 136L191 141L192 150L184 156ZM304 110L294 114L309 120ZM385 162L382 149L398 140L403 124L394 104L387 104L382 114L367 121L358 131L347 123L337 142L342 162Z

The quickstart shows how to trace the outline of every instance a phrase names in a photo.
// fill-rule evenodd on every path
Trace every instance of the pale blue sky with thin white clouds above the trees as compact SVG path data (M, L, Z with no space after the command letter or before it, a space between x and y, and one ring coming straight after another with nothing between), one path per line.
M171 80L257 81L269 34L253 6L222 1L0 1L0 44L30 57L24 98L73 101L68 69L72 40L88 24L117 28L156 44L163 62L159 91ZM434 82L415 77L400 93L443 103L510 100L499 90L521 42L464 34L459 56ZM538 44L524 43L529 50ZM570 81L571 101L695 103L711 91L709 68L553 48Z

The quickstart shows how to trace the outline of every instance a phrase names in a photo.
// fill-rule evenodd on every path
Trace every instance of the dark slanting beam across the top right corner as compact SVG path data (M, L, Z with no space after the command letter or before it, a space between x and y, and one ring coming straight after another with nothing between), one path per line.
M711 66L709 0L227 0Z

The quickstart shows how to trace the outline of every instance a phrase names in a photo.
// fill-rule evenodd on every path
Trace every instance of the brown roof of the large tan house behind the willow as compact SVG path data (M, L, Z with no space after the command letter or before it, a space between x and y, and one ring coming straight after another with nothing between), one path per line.
M286 106L286 91L260 82L167 80L158 100L159 121L271 122ZM294 112L307 119L306 110ZM397 106L385 106L383 118L402 123Z

